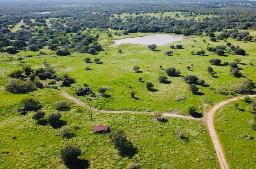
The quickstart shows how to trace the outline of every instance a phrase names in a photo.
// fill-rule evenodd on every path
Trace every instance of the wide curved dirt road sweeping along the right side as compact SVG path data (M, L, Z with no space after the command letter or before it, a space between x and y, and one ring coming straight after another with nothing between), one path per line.
M256 97L256 95L249 95L249 97ZM213 108L210 109L210 111L207 114L207 118L206 118L207 119L207 127L208 127L208 130L210 132L210 136L211 136L211 139L212 139L212 142L213 142L213 146L215 148L218 159L220 161L220 167L222 169L228 169L229 165L226 161L226 158L225 158L225 155L224 155L224 152L223 152L223 149L222 149L222 145L220 143L220 140L219 140L218 135L216 133L216 130L214 128L214 124L213 124L214 113L218 109L220 109L220 107L224 106L225 104L230 103L232 101L240 100L240 99L243 99L243 98L244 97L236 97L236 98L232 98L232 99L229 99L229 100L222 101L222 102L214 105Z

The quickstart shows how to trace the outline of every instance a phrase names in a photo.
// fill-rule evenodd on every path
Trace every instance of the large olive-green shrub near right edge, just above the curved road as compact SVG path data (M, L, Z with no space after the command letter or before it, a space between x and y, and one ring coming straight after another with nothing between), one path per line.
M254 88L254 83L249 78L242 78L239 84L233 86L233 90L239 94L250 93Z

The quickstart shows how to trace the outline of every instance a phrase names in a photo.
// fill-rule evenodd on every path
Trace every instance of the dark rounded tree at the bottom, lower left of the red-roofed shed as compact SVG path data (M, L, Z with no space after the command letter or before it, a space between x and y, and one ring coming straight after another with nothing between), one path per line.
M70 145L65 146L60 151L60 157L65 162L65 164L75 164L78 160L78 156L81 155L81 151L77 147Z

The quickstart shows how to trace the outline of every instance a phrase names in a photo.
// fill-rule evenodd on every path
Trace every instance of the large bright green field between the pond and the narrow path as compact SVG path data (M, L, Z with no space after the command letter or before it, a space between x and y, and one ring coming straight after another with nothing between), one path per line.
M100 32L91 31L92 35L96 33ZM136 36L141 35L145 34L136 34ZM158 46L158 51L150 51L146 45L112 45L112 39L131 36L135 35L115 36L113 34L113 37L108 38L104 32L100 33L99 43L103 45L105 51L100 52L98 55L73 53L70 56L59 57L55 55L55 51L50 51L46 47L41 50L46 52L46 56L36 56L39 52L32 51L21 51L13 55L13 57L35 55L24 58L25 63L19 63L15 59L8 59L9 54L2 53L0 73L4 76L6 72L16 67L21 67L24 64L29 64L33 68L43 67L43 60L46 59L56 69L57 75L60 76L68 72L76 80L76 83L72 84L74 87L83 87L83 84L87 83L97 93L98 88L107 86L109 90L106 91L106 97L99 97L92 101L87 100L89 96L79 97L79 99L94 107L108 110L160 111L179 114L188 114L186 112L186 106L190 104L195 105L198 108L198 112L202 112L204 106L233 97L234 94L230 90L231 86L239 82L241 78L233 77L229 71L229 66L213 65L212 67L217 74L215 77L212 77L206 71L207 66L211 66L208 62L211 58L220 58L222 62L232 62L235 58L241 58L242 64L239 64L239 68L242 69L241 72L243 75L251 78L253 81L256 80L254 76L256 67L249 65L249 62L255 63L256 51L253 48L255 42L243 43L242 41L235 41L232 38L228 38L227 41L219 40L217 42L211 42L209 37L191 36L191 38L183 41L172 43L173 45L181 44L184 49L170 49L170 44ZM205 43L203 39L206 39ZM206 51L207 46L226 45L227 42L231 42L235 46L239 45L245 49L248 55L239 56L232 53L223 57ZM207 45L208 43L210 45ZM123 53L118 53L119 48ZM196 52L201 50L201 48L206 51L205 56L190 54L191 51ZM165 51L169 50L174 51L172 56L166 56L164 54ZM103 64L84 63L83 60L85 57L90 57L91 60L99 57L103 61ZM182 77L169 77L170 84L159 83L157 76L160 72L164 73L164 70L161 70L159 65L163 65L164 69L175 66L176 69L181 71L182 76L189 74L196 75L199 79L204 79L207 85L199 86L200 95L193 95L189 90L189 85L183 81ZM85 70L84 68L86 66L90 66L92 70ZM141 73L134 72L132 69L133 66L139 66ZM191 66L190 71L186 69L187 66ZM139 77L142 77L144 82L138 82L137 79ZM151 81L154 84L155 92L146 90L146 81ZM217 88L226 88L229 94L222 95L216 91ZM73 89L70 87L64 87L62 90L74 94ZM135 97L138 100L131 99L130 91L135 92ZM175 102L175 97L185 97L185 100Z

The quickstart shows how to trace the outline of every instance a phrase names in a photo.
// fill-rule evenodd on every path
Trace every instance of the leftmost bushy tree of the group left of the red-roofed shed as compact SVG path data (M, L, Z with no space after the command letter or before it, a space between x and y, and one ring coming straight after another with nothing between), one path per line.
M20 104L24 112L36 111L40 108L39 101L32 97L22 99Z

